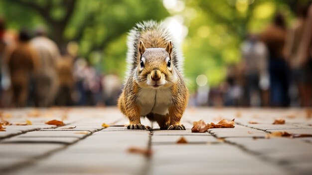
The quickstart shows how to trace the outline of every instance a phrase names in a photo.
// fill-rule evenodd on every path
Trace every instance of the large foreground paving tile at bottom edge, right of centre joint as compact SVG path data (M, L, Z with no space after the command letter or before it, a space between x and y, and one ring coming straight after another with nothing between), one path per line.
M157 145L153 146L153 150L155 155L152 157L151 175L286 174L273 165L225 144Z

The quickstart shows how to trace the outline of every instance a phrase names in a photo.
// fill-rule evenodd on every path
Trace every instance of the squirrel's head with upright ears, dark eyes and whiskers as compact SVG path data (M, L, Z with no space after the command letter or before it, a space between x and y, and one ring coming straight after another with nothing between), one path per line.
M137 83L143 88L168 88L175 82L174 67L171 60L172 44L165 48L146 48L139 44L139 65Z

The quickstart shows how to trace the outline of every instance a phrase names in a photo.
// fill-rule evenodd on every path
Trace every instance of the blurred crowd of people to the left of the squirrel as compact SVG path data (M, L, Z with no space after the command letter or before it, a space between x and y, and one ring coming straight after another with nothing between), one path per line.
M0 19L0 107L116 105L122 82L59 49L43 28L18 33Z

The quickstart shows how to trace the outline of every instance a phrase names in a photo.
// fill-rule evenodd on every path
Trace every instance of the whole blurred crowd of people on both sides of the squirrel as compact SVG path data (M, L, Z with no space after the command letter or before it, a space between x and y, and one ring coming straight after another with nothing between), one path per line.
M122 81L58 46L43 28L6 30L0 19L0 107L116 105ZM242 59L218 86L199 87L195 106L312 106L312 6L287 25L278 12L260 33L248 33Z

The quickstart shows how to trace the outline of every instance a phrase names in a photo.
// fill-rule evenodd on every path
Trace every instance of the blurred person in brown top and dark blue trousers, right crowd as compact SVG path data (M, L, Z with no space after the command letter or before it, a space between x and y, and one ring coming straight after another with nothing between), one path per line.
M269 53L270 103L276 107L289 106L288 65L283 56L286 38L284 15L277 13L260 38L266 44Z

